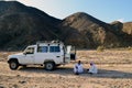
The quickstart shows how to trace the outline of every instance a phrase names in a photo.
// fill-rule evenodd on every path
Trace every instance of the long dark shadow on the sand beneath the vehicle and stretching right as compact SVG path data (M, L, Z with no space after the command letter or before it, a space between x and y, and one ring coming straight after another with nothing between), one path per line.
M20 72L29 72L31 73L36 73L36 74L58 74L58 75L75 75L73 73L73 68L69 67L57 67L55 70L45 70L43 67L26 67L23 68L21 67L19 69ZM98 69L98 74L90 75L88 74L87 69L85 69L84 74L80 74L78 76L82 77L98 77L98 78L132 78L132 73L124 73L124 72L119 72L119 70L107 70L107 69Z

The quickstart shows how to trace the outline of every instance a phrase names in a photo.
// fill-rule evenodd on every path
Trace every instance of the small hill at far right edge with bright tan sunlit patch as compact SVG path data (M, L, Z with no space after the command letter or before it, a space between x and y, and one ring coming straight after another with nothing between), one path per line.
M132 46L132 22L121 23L114 21L111 23L114 26L114 33L121 41L121 46Z

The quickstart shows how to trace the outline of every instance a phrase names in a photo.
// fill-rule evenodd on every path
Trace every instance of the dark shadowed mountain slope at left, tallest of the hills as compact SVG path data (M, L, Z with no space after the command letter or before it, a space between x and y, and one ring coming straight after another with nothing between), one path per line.
M58 38L59 20L16 1L0 1L0 48L21 48L41 40Z

